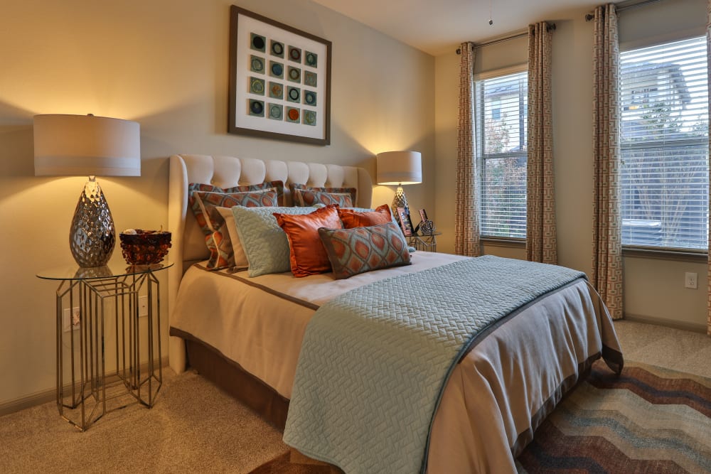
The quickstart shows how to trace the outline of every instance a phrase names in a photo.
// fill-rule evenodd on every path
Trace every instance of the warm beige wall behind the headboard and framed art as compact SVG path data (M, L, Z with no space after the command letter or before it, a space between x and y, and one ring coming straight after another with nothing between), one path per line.
M331 146L226 133L231 4L333 42ZM416 149L426 178L408 198L434 208L434 58L309 0L5 0L2 15L0 408L54 388L56 285L35 274L72 262L68 230L85 182L33 176L34 114L140 122L141 177L99 178L118 230L167 225L171 153L340 163L374 176L375 153ZM374 204L392 195L378 186Z

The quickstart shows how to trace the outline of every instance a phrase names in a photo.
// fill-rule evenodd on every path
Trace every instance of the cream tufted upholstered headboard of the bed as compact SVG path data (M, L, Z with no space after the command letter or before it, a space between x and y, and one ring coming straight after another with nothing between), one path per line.
M188 184L209 183L220 188L252 185L264 181L283 181L285 205L291 205L289 183L316 187L356 188L356 205L370 208L373 181L368 171L354 166L301 163L298 161L257 160L234 156L173 155L170 158L168 191L168 229L172 248L168 254L173 266L168 270L168 311L178 294L183 273L193 263L208 258L204 236L193 213L188 210ZM183 340L171 337L169 361L173 370L185 369Z

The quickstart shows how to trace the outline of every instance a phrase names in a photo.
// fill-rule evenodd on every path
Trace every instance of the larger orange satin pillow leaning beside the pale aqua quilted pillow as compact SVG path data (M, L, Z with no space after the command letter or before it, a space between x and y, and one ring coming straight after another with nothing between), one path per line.
M327 205L311 214L292 215L274 212L277 224L289 240L289 263L296 277L331 271L331 262L319 237L319 228L343 229L338 206Z

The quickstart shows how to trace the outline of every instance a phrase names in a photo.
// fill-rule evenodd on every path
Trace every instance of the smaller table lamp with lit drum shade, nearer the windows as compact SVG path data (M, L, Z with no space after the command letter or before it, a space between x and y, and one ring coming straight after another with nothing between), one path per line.
M392 198L392 215L397 208L407 208L407 196L402 185L422 183L422 153L419 151L384 151L375 157L376 181L382 185L397 185Z

